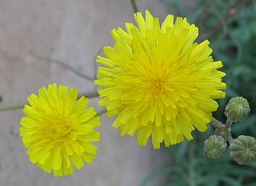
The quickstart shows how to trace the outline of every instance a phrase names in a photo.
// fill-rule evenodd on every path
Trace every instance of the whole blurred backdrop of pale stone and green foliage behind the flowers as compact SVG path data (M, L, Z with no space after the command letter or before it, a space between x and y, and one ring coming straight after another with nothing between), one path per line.
M250 103L250 116L232 127L234 137L256 137L256 1L138 0L160 21L166 14L187 17L199 27L197 42L209 39L215 60L224 63L226 99L214 117L225 122L230 97ZM129 0L0 0L0 106L26 102L30 93L49 83L70 85L80 92L94 89L55 59L94 76L94 57L112 45L110 30L134 22ZM90 105L97 105L91 99ZM98 110L100 108L97 108ZM238 165L229 153L222 160L202 155L212 133L194 133L195 140L154 150L138 148L135 139L119 137L113 120L102 116L102 140L96 160L72 176L54 178L31 164L18 135L22 110L0 112L0 186L254 186L256 164Z

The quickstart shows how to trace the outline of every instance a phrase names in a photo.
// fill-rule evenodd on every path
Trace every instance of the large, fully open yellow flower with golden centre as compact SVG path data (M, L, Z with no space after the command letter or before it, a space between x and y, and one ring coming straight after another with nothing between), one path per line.
M206 131L212 112L218 109L213 99L225 97L226 89L218 71L222 61L213 61L207 40L198 44L198 28L186 18L167 15L162 26L146 11L134 15L138 27L126 23L126 31L112 30L114 47L104 48L105 57L97 62L95 85L109 117L117 116L114 128L121 135L134 136L138 145L152 137L154 148L191 140L194 127Z

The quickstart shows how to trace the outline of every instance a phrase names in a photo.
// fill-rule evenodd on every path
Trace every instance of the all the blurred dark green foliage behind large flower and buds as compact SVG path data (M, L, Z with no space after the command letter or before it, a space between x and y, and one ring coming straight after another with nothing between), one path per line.
M170 14L186 16L190 23L196 24L201 37L198 42L209 39L214 59L223 62L226 99L219 101L220 107L214 117L225 121L225 106L230 98L245 97L250 104L249 117L234 124L232 133L234 137L241 134L256 137L256 0L198 0L194 1L193 8L186 6L185 1L162 2L170 7ZM171 165L155 170L142 185L149 185L155 178L164 180L161 185L170 186L256 185L256 163L239 165L230 159L229 150L221 160L203 156L203 141L213 133L209 126L206 133L194 133L196 140L167 148ZM195 148L192 148L193 143Z

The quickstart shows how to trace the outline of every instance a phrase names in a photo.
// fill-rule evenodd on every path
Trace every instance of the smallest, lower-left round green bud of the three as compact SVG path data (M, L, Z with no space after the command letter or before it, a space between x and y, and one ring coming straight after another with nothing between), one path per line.
M219 136L212 135L204 143L203 155L211 158L221 158L226 150L226 141Z

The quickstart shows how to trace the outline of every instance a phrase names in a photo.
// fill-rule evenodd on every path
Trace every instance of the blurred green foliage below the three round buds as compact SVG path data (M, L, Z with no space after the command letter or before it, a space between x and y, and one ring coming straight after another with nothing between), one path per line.
M256 164L239 165L230 159L227 150L222 159L211 160L202 155L203 141L210 134L194 133L197 139L185 141L182 144L167 148L170 154L171 164L165 168L160 168L150 172L142 182L142 186L150 185L153 179L162 180L162 184L168 186L251 186L256 185L255 172ZM191 146L194 144L194 156L190 156ZM194 165L193 165L194 161ZM193 167L191 168L191 164ZM191 181L191 175L194 174ZM192 183L193 182L193 183ZM252 184L254 183L254 184Z

